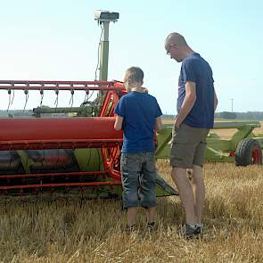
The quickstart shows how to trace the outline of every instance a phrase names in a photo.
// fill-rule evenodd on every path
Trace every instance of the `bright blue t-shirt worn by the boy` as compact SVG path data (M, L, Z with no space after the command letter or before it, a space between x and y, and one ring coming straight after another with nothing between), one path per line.
M114 113L123 118L121 152L154 152L155 119L162 114L155 97L128 93L120 98Z

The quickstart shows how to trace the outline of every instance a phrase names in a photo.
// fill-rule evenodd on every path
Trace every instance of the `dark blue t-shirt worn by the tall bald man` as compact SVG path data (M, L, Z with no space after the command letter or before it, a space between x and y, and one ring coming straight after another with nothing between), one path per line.
M210 64L199 53L193 53L182 62L178 81L177 112L185 99L186 81L195 82L196 101L184 123L191 127L212 128L214 125L214 79Z

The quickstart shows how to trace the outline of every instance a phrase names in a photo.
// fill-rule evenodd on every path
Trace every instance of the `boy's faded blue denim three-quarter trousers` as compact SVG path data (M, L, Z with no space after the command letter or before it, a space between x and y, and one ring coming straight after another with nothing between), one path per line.
M154 152L121 153L124 208L156 206Z

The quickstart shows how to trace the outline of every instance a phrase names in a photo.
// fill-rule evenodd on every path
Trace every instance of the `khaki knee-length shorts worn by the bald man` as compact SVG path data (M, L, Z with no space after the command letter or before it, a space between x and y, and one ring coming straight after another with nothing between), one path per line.
M172 132L172 148L170 164L177 168L193 168L193 165L202 167L206 137L210 129L190 127L182 124L174 127Z

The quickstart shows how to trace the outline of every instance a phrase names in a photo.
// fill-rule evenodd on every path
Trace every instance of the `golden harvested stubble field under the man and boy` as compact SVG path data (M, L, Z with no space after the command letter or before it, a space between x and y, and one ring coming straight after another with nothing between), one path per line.
M172 184L168 162L158 163ZM177 234L184 214L177 196L159 198L158 228L136 231L120 201L57 199L0 202L1 262L263 262L263 168L205 166L207 196L201 241Z

